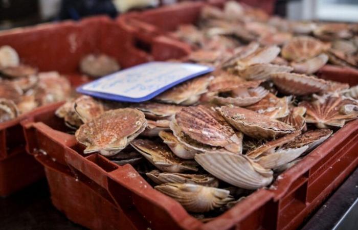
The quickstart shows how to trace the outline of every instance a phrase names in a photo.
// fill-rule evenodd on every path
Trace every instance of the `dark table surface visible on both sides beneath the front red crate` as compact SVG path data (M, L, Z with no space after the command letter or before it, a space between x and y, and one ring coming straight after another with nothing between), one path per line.
M358 169L311 215L302 230L358 229ZM355 202L355 203L354 203ZM349 211L349 212L347 212ZM0 229L79 230L51 203L47 182L34 185L7 198L0 198Z

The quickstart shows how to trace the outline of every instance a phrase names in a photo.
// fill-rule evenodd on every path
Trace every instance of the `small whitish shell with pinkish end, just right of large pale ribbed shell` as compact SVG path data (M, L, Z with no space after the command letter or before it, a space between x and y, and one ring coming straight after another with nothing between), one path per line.
M292 162L307 151L307 149L308 146L302 146L294 149L278 149L274 153L259 157L255 160L255 162L260 164L265 169L275 169Z

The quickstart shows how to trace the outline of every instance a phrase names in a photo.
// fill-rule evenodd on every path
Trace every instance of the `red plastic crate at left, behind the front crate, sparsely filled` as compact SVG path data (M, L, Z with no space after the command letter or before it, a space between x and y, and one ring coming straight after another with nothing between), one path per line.
M0 46L10 45L18 52L21 61L38 67L40 71L58 71L66 75L74 86L88 81L79 73L78 65L81 58L89 53L113 56L122 67L129 67L171 57L168 51L173 50L175 54L177 49L176 41L170 38L148 39L144 48L142 43L135 34L105 16L0 33ZM163 53L159 52L159 48ZM48 109L53 110L52 105L0 124L0 196L7 196L43 176L43 167L26 154L20 122L24 119L46 120L41 113ZM45 120L46 123L51 122Z

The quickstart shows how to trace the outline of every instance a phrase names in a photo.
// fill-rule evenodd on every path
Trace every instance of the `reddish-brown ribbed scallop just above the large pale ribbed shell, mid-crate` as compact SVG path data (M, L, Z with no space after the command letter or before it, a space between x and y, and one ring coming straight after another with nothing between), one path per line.
M181 142L183 139L180 136L187 135L204 145L225 148L234 153L242 150L242 140L238 139L231 126L215 110L203 105L183 108L175 114L170 128Z

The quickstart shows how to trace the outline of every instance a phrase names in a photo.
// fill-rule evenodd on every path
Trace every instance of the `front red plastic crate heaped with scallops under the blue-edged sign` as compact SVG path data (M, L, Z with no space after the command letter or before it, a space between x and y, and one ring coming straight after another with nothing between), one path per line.
M358 75L351 74L350 69L338 68L342 82L358 84ZM331 79L332 76L336 77L325 75L325 78ZM43 116L54 118L54 111ZM118 166L99 154L83 155L84 147L77 143L74 135L56 130L49 124L30 120L22 124L28 150L46 168L53 202L58 209L65 210L71 220L90 228L101 228L89 221L90 217L113 209L113 203L96 211L87 210L79 217L73 211L74 207L85 209L97 205L97 201L68 195L63 197L63 194L53 191L79 189L86 193L89 188L84 185L88 182L98 188L96 194L102 199L109 194L115 200L117 213L114 215L124 219L123 226L127 224L126 218L132 223L141 223L131 226L135 228L295 229L358 166L358 120L355 120L335 132L299 164L282 173L281 179L276 180L271 189L259 189L226 213L202 223L175 200L154 190L130 165ZM47 154L32 151L34 149ZM71 169L68 172L72 174L64 178L61 168ZM58 181L62 180L65 182L59 184ZM59 199L62 202L58 202ZM84 217L87 215L88 218ZM97 218L101 222L103 216ZM117 224L118 228L122 227L122 222Z

